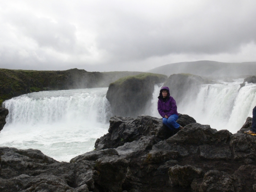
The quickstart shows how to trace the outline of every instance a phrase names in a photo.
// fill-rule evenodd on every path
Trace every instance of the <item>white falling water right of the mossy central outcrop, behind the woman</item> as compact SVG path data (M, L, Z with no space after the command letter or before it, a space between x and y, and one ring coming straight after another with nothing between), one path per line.
M192 116L196 122L209 124L214 129L227 129L236 133L246 118L252 117L252 109L256 105L256 85L245 84L240 88L241 83L243 79L234 80L232 83L204 84L196 98L184 99L177 103L178 113ZM161 86L155 85L151 102L154 109L149 112L158 118L161 118L156 110L160 89Z

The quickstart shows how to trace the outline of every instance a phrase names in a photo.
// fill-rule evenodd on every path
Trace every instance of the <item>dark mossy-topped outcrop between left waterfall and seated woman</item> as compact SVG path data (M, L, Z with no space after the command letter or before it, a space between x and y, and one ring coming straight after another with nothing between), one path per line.
M106 97L112 113L132 117L144 114L152 99L155 84L164 82L166 78L164 75L146 73L111 83Z

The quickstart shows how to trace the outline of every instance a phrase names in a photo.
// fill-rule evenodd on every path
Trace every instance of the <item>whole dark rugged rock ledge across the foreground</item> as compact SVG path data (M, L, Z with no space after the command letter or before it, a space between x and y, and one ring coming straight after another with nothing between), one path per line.
M0 191L239 192L256 190L256 137L178 119L114 116L96 150L58 162L36 149L0 148Z

